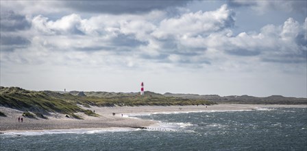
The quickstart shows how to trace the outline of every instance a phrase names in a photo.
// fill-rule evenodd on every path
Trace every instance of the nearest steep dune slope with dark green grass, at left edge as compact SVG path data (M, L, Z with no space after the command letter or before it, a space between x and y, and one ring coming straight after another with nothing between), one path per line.
M75 104L76 100L77 98L73 95L62 95L52 91L27 91L16 87L0 88L0 105L21 111L44 114L82 112L82 108Z

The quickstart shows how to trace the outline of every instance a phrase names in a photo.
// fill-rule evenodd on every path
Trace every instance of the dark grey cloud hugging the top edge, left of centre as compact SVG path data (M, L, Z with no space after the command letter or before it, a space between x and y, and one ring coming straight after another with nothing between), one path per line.
M190 0L168 1L64 1L67 8L81 12L110 14L138 14L151 10L163 10L169 7L186 5Z

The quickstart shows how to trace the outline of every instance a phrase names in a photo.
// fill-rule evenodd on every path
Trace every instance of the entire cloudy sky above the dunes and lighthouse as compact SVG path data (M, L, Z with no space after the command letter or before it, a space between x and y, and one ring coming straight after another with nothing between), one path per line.
M307 97L307 1L0 1L1 86Z

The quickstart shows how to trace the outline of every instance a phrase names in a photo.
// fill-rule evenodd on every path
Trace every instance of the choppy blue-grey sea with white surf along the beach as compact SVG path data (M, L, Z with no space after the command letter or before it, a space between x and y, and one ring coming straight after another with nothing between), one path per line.
M159 124L148 129L11 132L0 135L0 150L307 150L306 108L134 117Z

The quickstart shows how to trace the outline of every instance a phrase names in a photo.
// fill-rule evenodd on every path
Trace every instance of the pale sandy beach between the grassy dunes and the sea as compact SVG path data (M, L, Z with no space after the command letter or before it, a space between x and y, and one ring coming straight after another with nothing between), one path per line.
M180 109L181 108L181 109ZM99 117L90 117L84 113L77 115L84 119L67 118L65 115L51 113L48 119L30 119L23 117L23 123L18 121L23 111L0 107L0 111L8 117L0 117L0 132L57 130L80 128L139 128L152 126L156 121L130 118L131 115L151 113L188 113L210 111L250 111L262 108L307 108L307 105L262 105L262 104L218 104L212 106L116 106L97 107L90 109ZM112 113L116 113L115 116Z

